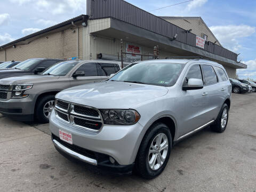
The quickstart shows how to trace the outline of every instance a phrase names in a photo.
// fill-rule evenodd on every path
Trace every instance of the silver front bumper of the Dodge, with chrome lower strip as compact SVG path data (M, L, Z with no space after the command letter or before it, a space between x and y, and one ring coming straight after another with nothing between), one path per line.
M61 154L92 165L113 168L118 172L132 169L142 129L136 123L124 126L103 125L100 132L92 132L61 121L55 116L54 110L50 117L53 143ZM72 134L73 145L59 139L59 130ZM114 164L110 163L109 157L115 159Z

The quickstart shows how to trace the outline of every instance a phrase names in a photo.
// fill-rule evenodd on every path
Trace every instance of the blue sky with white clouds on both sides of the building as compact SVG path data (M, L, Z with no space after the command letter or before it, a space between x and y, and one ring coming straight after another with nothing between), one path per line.
M127 0L146 11L185 1ZM1 0L0 5L0 45L86 14L86 0ZM202 17L222 46L241 53L238 60L248 68L237 70L239 77L256 79L255 0L194 0L151 13Z

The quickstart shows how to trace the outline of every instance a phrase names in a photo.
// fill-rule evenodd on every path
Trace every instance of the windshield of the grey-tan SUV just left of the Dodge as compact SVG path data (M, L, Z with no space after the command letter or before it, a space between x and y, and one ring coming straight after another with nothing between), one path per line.
M45 70L43 75L65 76L77 63L77 61L59 62Z

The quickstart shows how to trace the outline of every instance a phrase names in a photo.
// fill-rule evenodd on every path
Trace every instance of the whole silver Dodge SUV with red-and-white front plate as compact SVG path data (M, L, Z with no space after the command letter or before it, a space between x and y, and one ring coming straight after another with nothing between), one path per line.
M231 84L225 69L199 59L133 63L108 81L56 95L50 130L63 155L151 179L174 143L228 122Z

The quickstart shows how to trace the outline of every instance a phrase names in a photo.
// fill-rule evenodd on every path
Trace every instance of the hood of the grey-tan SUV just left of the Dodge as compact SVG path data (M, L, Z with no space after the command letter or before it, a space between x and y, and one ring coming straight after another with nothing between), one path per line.
M25 75L18 77L8 77L0 79L0 84L25 84L25 83L36 83L36 82L50 82L58 79L52 75Z

